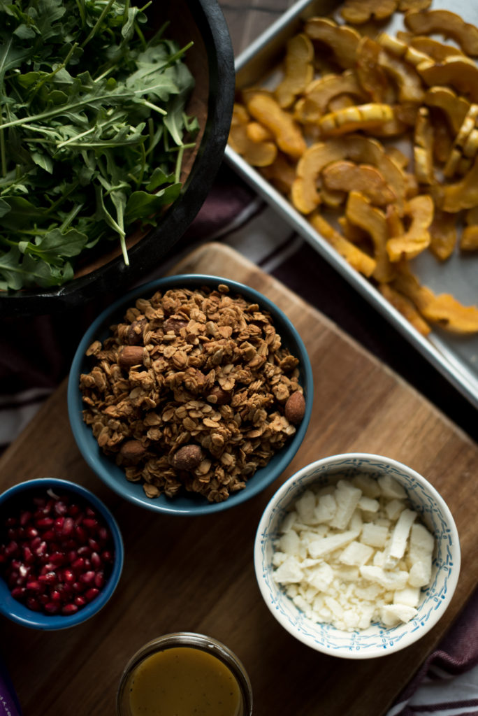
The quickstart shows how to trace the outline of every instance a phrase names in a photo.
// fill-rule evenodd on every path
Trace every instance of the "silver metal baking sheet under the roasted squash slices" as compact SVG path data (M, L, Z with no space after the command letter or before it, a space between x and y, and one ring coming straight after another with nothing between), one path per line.
M258 37L235 60L236 84L248 87L264 84L273 76L288 37L298 32L303 20L314 15L333 14L338 3L331 0L300 0L291 6L268 30ZM434 0L433 9L449 9L467 22L478 24L478 5L469 0L454 0L453 6L445 0ZM403 29L401 14L384 29L395 34ZM323 239L293 205L253 167L248 165L230 146L226 147L225 160L254 190L275 208L318 253L323 256L372 306L385 316L419 352L451 382L469 402L478 407L478 334L457 336L433 329L423 337L386 301L364 276L358 274ZM414 272L422 284L435 293L450 293L464 305L478 301L478 255L462 256L454 251L448 261L437 261L429 252L421 253L413 260Z

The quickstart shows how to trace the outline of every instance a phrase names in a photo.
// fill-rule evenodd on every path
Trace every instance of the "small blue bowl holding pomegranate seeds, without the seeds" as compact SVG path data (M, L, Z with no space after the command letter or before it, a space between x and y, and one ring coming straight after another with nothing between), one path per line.
M81 499L83 503L91 505L92 508L102 516L104 523L112 534L114 544L114 563L112 565L112 571L109 574L107 583L102 587L98 596L93 601L90 601L89 604L83 606L82 609L79 609L76 614L69 616L62 614L43 614L42 612L28 609L27 606L21 604L21 602L11 596L6 581L0 577L0 614L4 614L4 616L11 619L11 621L16 621L17 624L30 627L31 629L68 629L77 624L82 624L91 616L97 614L112 596L122 572L124 558L123 541L117 522L106 505L104 505L96 495L82 487L82 485L69 482L69 480L38 478L14 485L0 495L0 514L9 516L9 505L14 509L16 505L22 505L22 503L24 504L30 497L42 495L47 490L52 490L56 494L74 495L76 498Z

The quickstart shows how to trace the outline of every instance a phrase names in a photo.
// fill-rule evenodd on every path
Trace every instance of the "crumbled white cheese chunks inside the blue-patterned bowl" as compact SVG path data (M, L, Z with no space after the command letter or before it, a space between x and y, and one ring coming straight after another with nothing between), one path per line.
M308 489L279 529L274 579L309 619L338 629L409 621L434 550L418 519L389 475Z

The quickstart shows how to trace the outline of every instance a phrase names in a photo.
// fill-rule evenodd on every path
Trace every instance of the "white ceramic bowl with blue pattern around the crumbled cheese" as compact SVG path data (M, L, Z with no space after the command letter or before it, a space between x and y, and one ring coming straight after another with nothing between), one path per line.
M409 495L411 508L433 533L435 551L431 583L422 589L418 613L406 624L384 627L371 624L368 629L346 632L331 624L318 624L293 604L281 585L273 579L273 543L278 529L291 505L312 485L321 487L333 482L338 475L346 479L358 473L379 478L391 475L403 485ZM255 576L265 604L275 619L308 647L331 656L346 659L369 659L404 649L429 632L447 610L460 569L460 547L457 527L452 513L436 489L406 465L367 453L332 455L306 465L273 495L260 519L254 546Z

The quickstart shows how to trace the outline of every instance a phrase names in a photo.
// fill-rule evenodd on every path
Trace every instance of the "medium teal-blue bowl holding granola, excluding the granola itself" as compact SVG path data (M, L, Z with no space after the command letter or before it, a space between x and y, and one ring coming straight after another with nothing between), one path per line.
M92 434L91 427L86 425L83 421L82 410L84 406L82 403L82 394L79 390L79 376L90 370L90 365L85 358L85 352L94 340L103 341L110 334L109 326L121 321L125 311L130 308L130 306L134 306L137 299L141 297L149 298L158 290L165 291L173 288L200 289L203 286L217 288L218 284L225 284L229 287L231 294L241 294L248 301L257 303L260 309L270 313L275 329L278 334L281 335L283 346L287 347L300 361L300 382L303 387L304 397L306 398L306 412L291 440L288 441L278 453L275 453L268 465L257 470L257 472L249 478L245 484L245 488L231 494L227 500L220 503L208 503L206 498L202 495L192 493L177 495L174 498L167 498L165 495L160 495L157 498L147 498L141 483L129 482L125 478L125 473L122 468L119 468L111 458L108 458L102 453L102 450L97 444L97 440ZM263 296L263 294L255 291L255 289L251 289L250 286L245 286L237 281L230 281L223 277L206 276L204 274L181 274L168 276L164 279L157 279L143 286L138 286L122 299L115 301L112 306L109 306L108 309L97 317L84 334L77 348L77 352L74 355L68 382L69 421L74 439L89 467L92 468L94 473L96 473L109 488L126 500L130 500L130 502L140 507L170 515L190 516L217 513L244 503L268 487L268 485L273 483L273 481L286 470L294 455L296 455L298 448L301 446L301 442L306 435L308 422L311 418L312 404L313 376L311 362L300 335L286 314L284 314L281 309L278 309L272 301Z

